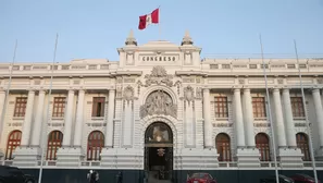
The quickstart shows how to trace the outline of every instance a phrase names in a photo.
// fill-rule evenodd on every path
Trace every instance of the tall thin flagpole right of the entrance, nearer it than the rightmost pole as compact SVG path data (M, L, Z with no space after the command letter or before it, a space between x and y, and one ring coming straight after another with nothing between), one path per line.
M265 64L264 64L264 59L263 59L263 47L262 47L261 35L259 35L259 40L260 40L260 47L261 47L261 60L262 60L262 68L263 68L263 75L264 75L264 83L265 83L265 94L266 94L268 108L269 108L269 120L270 120L270 124L271 124L272 139L273 139L272 143L273 143L276 182L279 183L278 170L277 170L277 157L276 157L276 141L275 141L274 127L272 124L273 119L272 119L272 110L271 110L271 100L270 100L269 88L268 88L268 80L266 80L266 71L265 71Z

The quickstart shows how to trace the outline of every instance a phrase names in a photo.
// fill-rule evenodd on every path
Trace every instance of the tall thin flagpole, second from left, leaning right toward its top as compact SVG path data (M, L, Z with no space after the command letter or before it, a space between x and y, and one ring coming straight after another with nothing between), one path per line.
M38 183L41 183L41 178L42 178L42 167L44 167L44 158L45 158L45 151L46 151L45 149L46 149L46 144L47 144L47 125L46 124L50 121L49 105L50 105L51 90L52 90L52 78L53 78L53 70L54 70L55 58L57 58L58 39L59 39L59 34L57 34L52 65L51 65L50 85L49 85L49 93L48 93L48 99L47 99L47 113L46 113L47 120L45 123L42 122L42 125L41 125L42 144L41 144L41 160L40 160Z

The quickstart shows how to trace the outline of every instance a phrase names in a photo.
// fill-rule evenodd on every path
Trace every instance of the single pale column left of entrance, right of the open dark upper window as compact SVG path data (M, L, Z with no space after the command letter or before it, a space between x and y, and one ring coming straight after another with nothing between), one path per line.
M109 101L108 101L108 124L105 127L105 147L113 147L113 120L114 120L114 97L115 89L109 90Z

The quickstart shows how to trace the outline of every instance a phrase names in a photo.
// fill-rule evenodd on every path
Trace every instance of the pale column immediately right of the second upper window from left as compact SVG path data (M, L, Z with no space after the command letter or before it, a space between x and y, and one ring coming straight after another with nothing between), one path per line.
M74 101L74 90L69 90L67 96L67 107L65 112L65 127L64 127L64 137L63 137L63 146L71 145L71 136L72 136L72 114L73 114L73 101Z

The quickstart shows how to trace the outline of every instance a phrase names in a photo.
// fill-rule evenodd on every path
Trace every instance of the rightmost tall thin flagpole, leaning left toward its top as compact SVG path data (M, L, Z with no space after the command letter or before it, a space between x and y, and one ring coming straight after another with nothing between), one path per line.
M309 122L309 115L306 107L306 98L305 98L305 91L303 91L303 85L302 85L302 80L301 80L301 73L300 73L300 68L299 68L299 59L298 59L298 51L297 51L297 46L296 46L296 40L294 39L294 47L295 47L295 56L297 60L297 65L298 65L298 76L299 76L299 84L300 84L300 90L301 90L301 97L302 97L302 106L305 109L305 115L306 115L306 124L307 124L307 131L310 139L310 155L312 159L312 167L313 167L313 173L314 173L314 179L315 183L318 183L318 174L316 174L316 166L315 166L315 157L313 152L313 142L312 142L312 134L311 134L311 127L310 127L310 122Z

